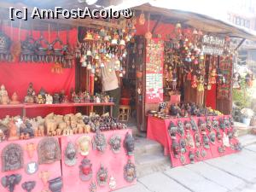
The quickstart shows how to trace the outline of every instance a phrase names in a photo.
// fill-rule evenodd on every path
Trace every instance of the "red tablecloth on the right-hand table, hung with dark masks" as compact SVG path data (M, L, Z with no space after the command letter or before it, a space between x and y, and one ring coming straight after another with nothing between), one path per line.
M229 116L217 116L215 117L216 119L219 118L224 118L224 117L229 117ZM209 117L210 119L212 119L213 117ZM193 119L195 119L195 123L198 125L198 120L199 119L203 119L206 120L205 117L193 117ZM196 161L201 161L201 160L207 160L207 159L211 159L214 157L218 157L218 156L222 156L225 154L232 154L232 153L236 153L236 150L232 150L231 148L225 148L224 153L218 153L218 147L223 145L223 142L217 141L216 138L216 142L215 143L209 143L210 148L204 148L203 146L199 147L199 148L190 148L190 147L186 147L186 152L183 154L183 157L185 157L185 162L182 164L181 160L177 159L174 157L173 153L172 153L172 139L169 136L168 133L168 126L171 123L171 121L174 123L174 125L177 125L177 120L181 120L183 123L186 120L190 121L190 118L172 118L172 119L159 119L159 118L155 118L152 116L148 116L148 130L147 130L147 137L148 139L152 139L154 141L157 141L158 143L160 143L163 147L164 147L164 154L165 155L170 155L171 158L171 162L172 162L172 166L182 166L184 164L189 164L189 152L206 152L205 156L201 156L199 159L195 159ZM230 128L232 129L232 128ZM216 131L212 129L212 131L215 132L216 135ZM219 129L221 135L224 135L224 131L222 131L221 129ZM225 134L227 134L228 130L225 130ZM186 139L186 137L190 135L193 139L193 142L195 143L195 131L189 131L186 132L185 135L183 136L183 139ZM207 131L207 136L209 136L209 131ZM200 137L201 137L201 141L202 141L202 135L200 133ZM179 143L180 139L182 137L180 135L176 135L176 139L177 139L177 143ZM238 140L236 138L232 138L230 140L230 143L237 143Z

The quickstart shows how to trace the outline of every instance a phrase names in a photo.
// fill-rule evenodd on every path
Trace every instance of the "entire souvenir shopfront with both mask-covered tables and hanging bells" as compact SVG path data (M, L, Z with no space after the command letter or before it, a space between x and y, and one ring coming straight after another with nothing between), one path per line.
M225 25L148 5L134 10L129 20L1 20L1 191L136 183L134 138L124 123L132 117L172 166L241 149L229 116L235 49L212 30ZM209 20L215 28L205 27ZM121 79L118 118L115 98L102 93L109 61Z

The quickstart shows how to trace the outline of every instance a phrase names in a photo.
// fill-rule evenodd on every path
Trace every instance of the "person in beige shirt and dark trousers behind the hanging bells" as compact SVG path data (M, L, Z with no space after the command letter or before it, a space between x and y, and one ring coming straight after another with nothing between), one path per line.
M120 78L119 67L116 66L116 60L105 63L101 70L102 91L107 92L108 96L113 97L113 118L118 118L120 101Z

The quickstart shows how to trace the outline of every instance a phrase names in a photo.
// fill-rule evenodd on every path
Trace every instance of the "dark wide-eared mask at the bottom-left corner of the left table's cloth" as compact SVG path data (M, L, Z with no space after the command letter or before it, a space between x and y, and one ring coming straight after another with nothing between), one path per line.
M15 191L15 186L19 184L21 181L21 175L20 174L11 174L2 177L1 183L4 188L7 188L9 192Z

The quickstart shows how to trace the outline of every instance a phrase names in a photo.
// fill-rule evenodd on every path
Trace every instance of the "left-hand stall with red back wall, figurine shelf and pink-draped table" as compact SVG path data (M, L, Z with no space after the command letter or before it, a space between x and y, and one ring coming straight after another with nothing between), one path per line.
M9 6L0 5L1 15ZM112 191L137 182L131 130L112 117L115 98L95 87L109 62L125 75L134 24L1 20L1 191Z

